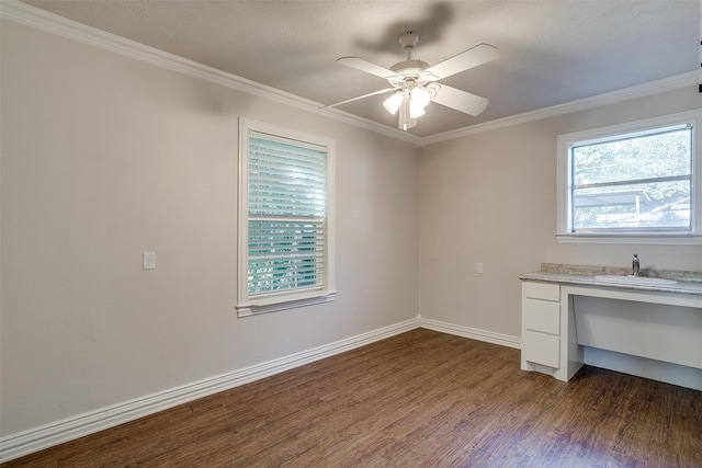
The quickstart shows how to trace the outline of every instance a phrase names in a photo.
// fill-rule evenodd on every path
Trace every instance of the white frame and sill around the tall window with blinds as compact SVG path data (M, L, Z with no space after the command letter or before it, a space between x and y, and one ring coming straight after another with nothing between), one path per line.
M274 292L256 297L248 293L249 263L249 137L252 133L270 135L274 139L298 141L301 146L324 147L327 151L326 252L324 286L312 290ZM335 140L317 135L279 127L271 124L239 118L239 203L238 203L238 317L329 303L336 298L335 289Z

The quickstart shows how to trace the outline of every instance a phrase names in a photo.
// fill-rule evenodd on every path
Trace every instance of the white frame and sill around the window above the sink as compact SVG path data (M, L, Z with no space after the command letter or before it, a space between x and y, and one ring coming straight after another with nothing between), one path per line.
M630 229L612 232L573 232L573 160L570 148L585 141L604 140L619 135L654 130L675 125L692 125L692 187L690 231L646 231ZM608 127L558 135L557 138L557 227L556 238L564 243L645 243L702 244L702 111L689 111Z

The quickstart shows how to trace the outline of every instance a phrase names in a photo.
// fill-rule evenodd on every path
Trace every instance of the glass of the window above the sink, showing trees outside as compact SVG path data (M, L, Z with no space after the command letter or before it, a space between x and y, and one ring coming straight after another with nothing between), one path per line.
M691 227L692 128L573 145L573 230Z

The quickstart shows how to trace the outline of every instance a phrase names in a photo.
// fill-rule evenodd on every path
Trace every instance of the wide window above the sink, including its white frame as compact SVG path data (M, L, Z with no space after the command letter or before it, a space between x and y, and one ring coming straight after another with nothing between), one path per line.
M700 116L558 136L558 240L702 243Z

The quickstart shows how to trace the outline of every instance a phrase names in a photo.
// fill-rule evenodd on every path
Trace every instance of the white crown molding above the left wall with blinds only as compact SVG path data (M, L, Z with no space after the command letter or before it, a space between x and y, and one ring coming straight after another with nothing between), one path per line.
M77 21L23 3L19 0L0 0L0 18L99 47L104 50L110 50L125 57L210 81L226 88L246 92L258 98L290 105L314 114L324 115L336 121L411 142L417 146L421 141L420 137L400 129L382 125L367 118L358 117L337 109L322 110L320 107L322 107L324 104L318 102L189 60L136 41L124 38L116 34L88 26Z

